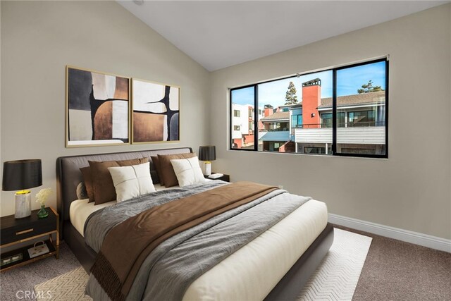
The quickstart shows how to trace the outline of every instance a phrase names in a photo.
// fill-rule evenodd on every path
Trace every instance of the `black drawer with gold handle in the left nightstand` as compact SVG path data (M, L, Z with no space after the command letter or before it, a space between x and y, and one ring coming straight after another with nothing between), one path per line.
M46 221L32 221L30 217L24 219L29 219L29 222L1 229L1 245L56 231L56 219L51 216Z

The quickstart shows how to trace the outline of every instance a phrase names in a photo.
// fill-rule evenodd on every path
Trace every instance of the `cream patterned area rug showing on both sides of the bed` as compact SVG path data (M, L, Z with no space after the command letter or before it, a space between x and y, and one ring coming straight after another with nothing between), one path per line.
M351 300L372 238L334 229L333 245L297 298ZM37 300L92 300L85 296L87 274L80 267L35 286Z

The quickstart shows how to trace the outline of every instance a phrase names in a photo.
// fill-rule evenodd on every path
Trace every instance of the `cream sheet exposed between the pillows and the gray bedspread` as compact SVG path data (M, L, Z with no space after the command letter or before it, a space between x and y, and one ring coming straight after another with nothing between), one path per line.
M154 184L155 190L166 190L171 188L166 188L161 186L160 184ZM173 188L176 188L175 186ZM93 212L111 206L112 204L116 204L116 201L106 202L104 204L98 204L94 206L94 202L88 203L89 199L77 199L70 203L69 209L69 218L70 223L77 229L78 233L80 233L83 237L85 237L84 229L85 229L85 221L88 216Z

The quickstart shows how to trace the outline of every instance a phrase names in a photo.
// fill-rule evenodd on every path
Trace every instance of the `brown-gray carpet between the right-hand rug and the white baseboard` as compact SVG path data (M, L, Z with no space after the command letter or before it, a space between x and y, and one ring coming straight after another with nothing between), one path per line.
M450 253L335 227L373 238L352 300L451 300Z

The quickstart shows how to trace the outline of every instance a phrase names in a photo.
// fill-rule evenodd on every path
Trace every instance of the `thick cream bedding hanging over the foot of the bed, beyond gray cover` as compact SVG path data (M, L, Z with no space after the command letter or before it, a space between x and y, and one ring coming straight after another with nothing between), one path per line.
M326 204L311 199L197 278L183 300L263 300L327 221Z

